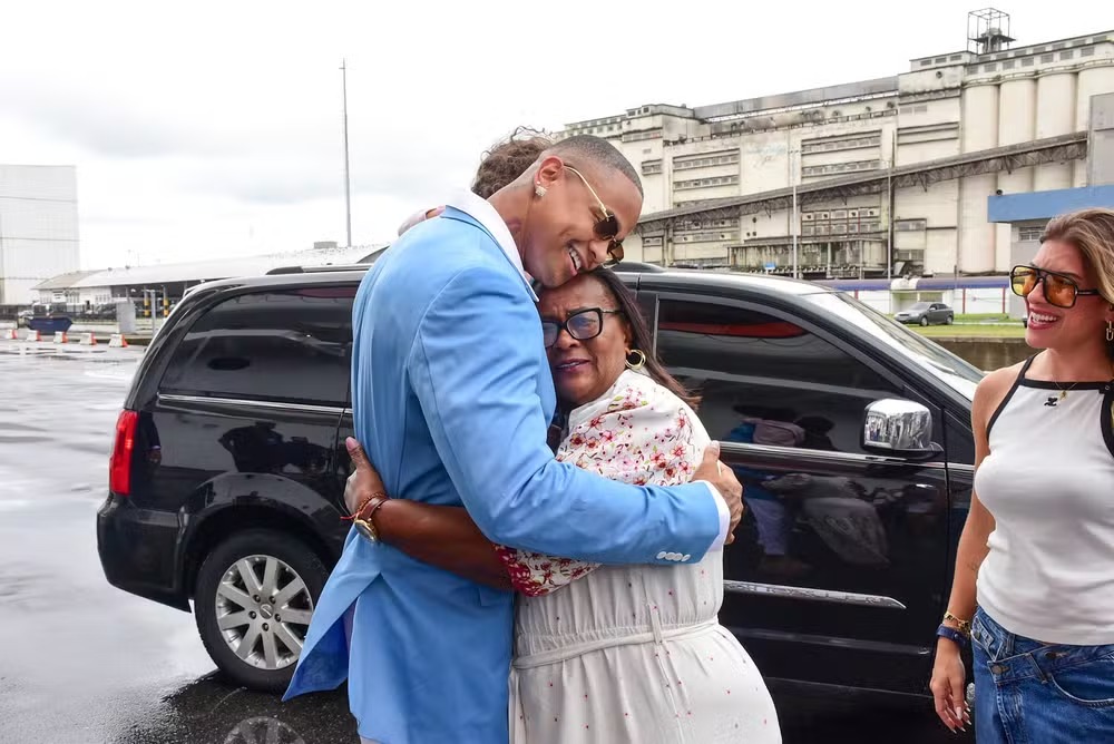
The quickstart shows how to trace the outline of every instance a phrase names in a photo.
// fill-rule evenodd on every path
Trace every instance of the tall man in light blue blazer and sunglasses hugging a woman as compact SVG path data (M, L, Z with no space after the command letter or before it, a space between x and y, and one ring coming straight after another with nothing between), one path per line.
M641 211L631 164L574 137L375 262L355 300L352 402L390 495L463 506L495 542L584 560L698 561L722 548L741 513L730 469L639 488L558 463L546 444L556 394L531 280L558 286L607 262ZM511 594L353 529L286 698L348 678L365 741L506 742L512 617Z

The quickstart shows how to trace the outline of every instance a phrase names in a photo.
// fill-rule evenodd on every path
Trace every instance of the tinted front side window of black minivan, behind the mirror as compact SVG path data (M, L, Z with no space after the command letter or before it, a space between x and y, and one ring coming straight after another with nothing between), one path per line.
M862 452L863 409L902 397L872 369L794 323L665 298L658 312L658 352L702 397L700 415L713 439Z

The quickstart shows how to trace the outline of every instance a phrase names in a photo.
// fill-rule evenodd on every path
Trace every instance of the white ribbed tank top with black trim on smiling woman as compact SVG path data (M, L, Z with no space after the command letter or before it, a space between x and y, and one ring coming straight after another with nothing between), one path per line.
M1032 363L990 419L975 473L995 519L978 603L1017 635L1114 644L1114 381L1062 399L1056 383L1026 379Z

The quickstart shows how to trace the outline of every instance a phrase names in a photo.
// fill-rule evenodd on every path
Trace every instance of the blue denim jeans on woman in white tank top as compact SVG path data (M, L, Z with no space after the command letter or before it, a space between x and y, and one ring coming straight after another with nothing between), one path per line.
M978 744L1114 742L1114 645L1043 644L979 609L971 650Z

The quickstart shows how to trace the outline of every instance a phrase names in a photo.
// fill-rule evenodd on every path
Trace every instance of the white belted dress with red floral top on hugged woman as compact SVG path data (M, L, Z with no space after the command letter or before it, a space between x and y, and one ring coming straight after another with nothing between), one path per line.
M570 414L557 458L614 480L676 484L709 441L683 401L627 371ZM620 567L499 551L524 595L511 744L781 742L761 674L716 621L722 551Z

